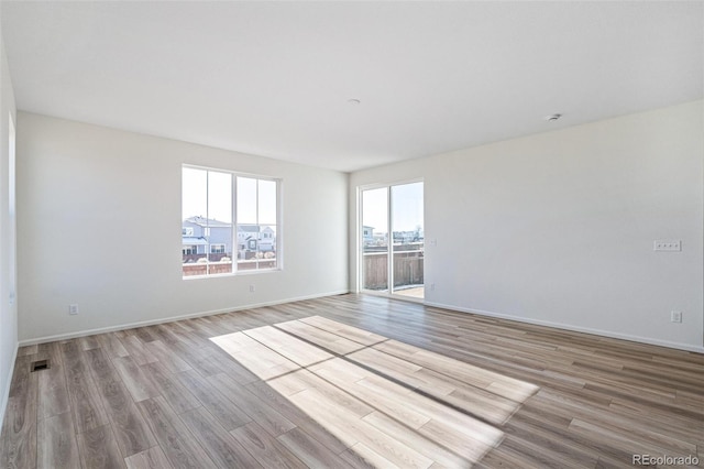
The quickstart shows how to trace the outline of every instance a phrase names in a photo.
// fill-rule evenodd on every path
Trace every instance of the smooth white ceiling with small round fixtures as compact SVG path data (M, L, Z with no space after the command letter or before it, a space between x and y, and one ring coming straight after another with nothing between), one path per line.
M704 97L698 1L2 1L1 14L22 110L339 171Z

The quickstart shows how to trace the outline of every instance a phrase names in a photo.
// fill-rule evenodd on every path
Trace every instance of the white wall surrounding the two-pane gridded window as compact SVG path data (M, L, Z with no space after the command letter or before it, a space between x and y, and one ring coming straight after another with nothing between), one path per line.
M346 174L25 112L18 120L23 343L349 290ZM182 279L184 163L283 178L283 271Z

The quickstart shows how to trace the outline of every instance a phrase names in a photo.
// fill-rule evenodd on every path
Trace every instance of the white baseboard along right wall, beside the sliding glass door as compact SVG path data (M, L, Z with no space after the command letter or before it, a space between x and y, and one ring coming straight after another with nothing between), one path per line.
M553 323L553 321L550 321L550 320L531 319L531 318L512 316L512 315L507 315L507 314L487 312L487 310L482 310L482 309L471 309L471 308L464 308L464 307L461 307L461 306L444 305L444 304L441 304L441 303L426 302L425 305L426 306L438 307L438 308L443 308L443 309L455 310L455 312L460 312L460 313L470 313L470 314L476 314L476 315L480 315L480 316L490 316L490 317L496 317L496 318L499 318L499 319L515 320L515 321L518 321L518 323L534 324L536 326L554 327L557 329L571 330L571 331L574 331L574 332L593 334L595 336L608 337L608 338L612 338L612 339L630 340L631 342L648 343L648 345L651 345L651 346L668 347L668 348L671 348L671 349L686 350L686 351L692 351L692 352L696 352L696 353L704 353L704 347L692 346L690 343L671 342L671 341L668 341L668 340L652 339L650 337L631 336L629 334L614 332L614 331L610 331L610 330L592 329L592 328L588 328L588 327L573 326L573 325L570 325L570 324Z

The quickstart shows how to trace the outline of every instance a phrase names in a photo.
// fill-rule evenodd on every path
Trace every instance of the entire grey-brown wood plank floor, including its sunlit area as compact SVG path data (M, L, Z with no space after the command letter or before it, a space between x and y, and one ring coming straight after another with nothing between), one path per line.
M0 436L1 468L616 468L634 455L704 467L704 356L363 295L21 348Z

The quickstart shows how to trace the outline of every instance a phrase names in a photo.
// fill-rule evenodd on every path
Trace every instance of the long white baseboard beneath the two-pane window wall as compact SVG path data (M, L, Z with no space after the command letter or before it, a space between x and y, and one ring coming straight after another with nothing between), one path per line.
M33 346L35 343L54 342L56 340L75 339L77 337L94 336L96 334L114 332L116 330L133 329L135 327L153 326L155 324L173 323L175 320L190 319L194 317L212 316L217 314L233 313L233 312L243 310L243 309L253 309L253 308L261 308L264 306L282 305L285 303L302 302L305 299L315 299L315 298L321 298L324 296L344 295L346 293L350 293L350 291L340 290L337 292L320 293L320 294L308 295L308 296L298 296L298 297L286 298L286 299L277 299L275 302L253 303L249 305L233 306L233 307L223 308L223 309L198 312L198 313L191 313L191 314L186 314L180 316L170 316L170 317L164 317L164 318L152 319L152 320L142 320L138 323L119 324L114 326L100 327L97 329L87 329L87 330L79 330L75 332L57 334L55 336L36 337L32 339L20 340L19 347Z

